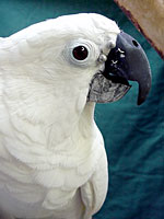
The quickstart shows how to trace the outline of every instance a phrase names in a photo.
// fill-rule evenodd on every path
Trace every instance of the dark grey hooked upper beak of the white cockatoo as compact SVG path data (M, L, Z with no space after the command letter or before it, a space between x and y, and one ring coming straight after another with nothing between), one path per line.
M139 83L138 105L142 104L151 88L151 69L141 45L130 35L120 32L116 47L105 62L104 77L116 83L129 84L128 80Z

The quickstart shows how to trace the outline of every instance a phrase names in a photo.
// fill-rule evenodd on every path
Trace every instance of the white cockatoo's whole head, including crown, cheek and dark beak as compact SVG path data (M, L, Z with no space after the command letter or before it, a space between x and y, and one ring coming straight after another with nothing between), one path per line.
M12 69L7 93L21 104L24 101L30 118L54 112L61 117L59 108L68 118L71 113L81 113L89 102L117 101L129 91L129 80L139 83L141 104L151 88L149 61L140 44L99 14L40 22L10 36L2 46L3 66L9 69L10 64Z

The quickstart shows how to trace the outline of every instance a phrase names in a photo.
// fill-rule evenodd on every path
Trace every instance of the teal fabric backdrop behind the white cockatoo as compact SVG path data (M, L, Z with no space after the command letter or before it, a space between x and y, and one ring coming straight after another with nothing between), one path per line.
M0 36L62 14L96 12L115 20L145 49L152 89L137 106L138 85L119 102L97 104L95 119L109 161L109 191L94 219L164 219L164 62L112 0L0 0Z

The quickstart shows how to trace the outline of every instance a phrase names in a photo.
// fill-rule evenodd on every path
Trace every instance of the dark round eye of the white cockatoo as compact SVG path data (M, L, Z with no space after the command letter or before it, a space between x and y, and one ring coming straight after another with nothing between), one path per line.
M87 57L89 51L84 46L78 46L73 48L72 54L77 60L84 60Z

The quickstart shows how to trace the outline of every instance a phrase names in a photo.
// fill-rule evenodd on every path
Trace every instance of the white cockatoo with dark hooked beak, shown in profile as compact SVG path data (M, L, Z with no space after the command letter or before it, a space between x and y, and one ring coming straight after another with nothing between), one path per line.
M95 103L151 87L139 43L99 14L65 15L0 38L1 219L91 219L108 186Z

